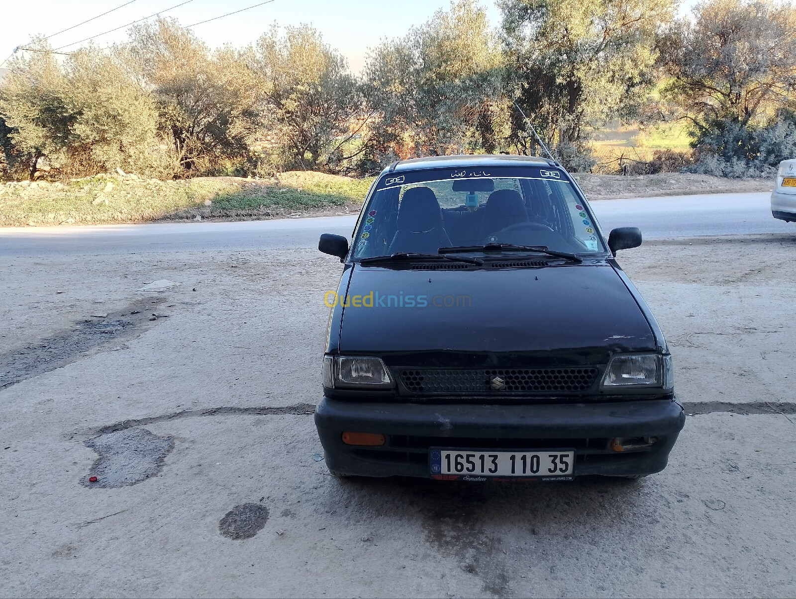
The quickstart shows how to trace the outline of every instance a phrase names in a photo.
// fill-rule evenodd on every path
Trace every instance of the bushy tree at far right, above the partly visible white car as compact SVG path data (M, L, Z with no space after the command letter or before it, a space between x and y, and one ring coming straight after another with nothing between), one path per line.
M661 35L669 112L693 127L694 169L766 174L792 158L796 14L771 0L711 0Z

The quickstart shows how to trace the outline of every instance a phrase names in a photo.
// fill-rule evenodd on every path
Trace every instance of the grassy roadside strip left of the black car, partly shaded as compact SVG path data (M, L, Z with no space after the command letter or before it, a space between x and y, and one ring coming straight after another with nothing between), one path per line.
M373 179L283 173L275 179L185 181L97 175L65 184L0 185L0 226L270 218L358 209Z

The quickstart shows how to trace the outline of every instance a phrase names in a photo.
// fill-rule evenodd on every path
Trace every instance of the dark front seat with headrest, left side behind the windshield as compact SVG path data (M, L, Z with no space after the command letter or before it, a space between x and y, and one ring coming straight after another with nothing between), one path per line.
M413 187L404 192L396 228L388 250L390 254L399 251L436 254L440 247L451 245L443 228L437 196L427 187Z

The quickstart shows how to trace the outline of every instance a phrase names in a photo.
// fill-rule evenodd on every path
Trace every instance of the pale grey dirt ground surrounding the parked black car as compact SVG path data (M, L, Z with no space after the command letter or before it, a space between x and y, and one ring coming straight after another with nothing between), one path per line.
M620 253L691 414L669 467L494 486L328 475L329 256L0 258L0 595L792 597L794 247Z

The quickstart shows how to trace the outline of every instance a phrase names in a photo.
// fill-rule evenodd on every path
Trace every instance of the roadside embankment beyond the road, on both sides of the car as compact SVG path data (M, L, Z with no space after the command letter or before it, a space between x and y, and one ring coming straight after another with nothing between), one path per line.
M709 175L575 175L591 200L770 191L767 179ZM103 173L65 182L0 185L0 227L263 220L357 212L373 178L292 171L270 179L196 177L179 181Z

